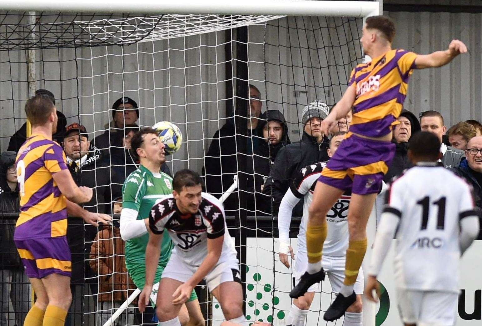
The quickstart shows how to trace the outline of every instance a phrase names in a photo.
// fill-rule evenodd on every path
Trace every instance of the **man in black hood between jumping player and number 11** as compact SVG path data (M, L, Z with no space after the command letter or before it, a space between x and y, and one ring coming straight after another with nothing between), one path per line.
M401 175L405 169L413 166L408 158L408 141L413 134L420 131L418 119L408 110L403 109L397 120L400 123L393 128L392 139L396 146L395 156L390 166L388 166L388 172L383 177L385 183L388 183L393 177Z

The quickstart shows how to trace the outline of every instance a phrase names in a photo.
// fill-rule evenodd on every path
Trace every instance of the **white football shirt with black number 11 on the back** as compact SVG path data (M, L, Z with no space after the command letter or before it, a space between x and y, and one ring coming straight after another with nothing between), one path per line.
M387 191L377 238L396 239L395 284L407 290L458 292L459 223L477 217L470 186L436 163L418 163ZM385 238L387 238L385 236ZM375 240L371 275L380 271L387 243Z

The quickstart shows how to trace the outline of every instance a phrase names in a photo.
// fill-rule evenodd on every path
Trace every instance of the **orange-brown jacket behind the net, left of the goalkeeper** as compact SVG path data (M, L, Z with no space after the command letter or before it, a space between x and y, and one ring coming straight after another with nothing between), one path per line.
M97 233L90 259L92 270L99 275L99 301L126 300L136 286L125 267L124 241L119 228L108 226Z

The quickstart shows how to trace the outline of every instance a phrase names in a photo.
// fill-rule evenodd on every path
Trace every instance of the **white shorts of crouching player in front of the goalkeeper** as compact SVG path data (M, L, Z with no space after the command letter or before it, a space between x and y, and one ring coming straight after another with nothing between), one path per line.
M180 282L187 282L194 272L197 271L196 266L187 265L173 251L166 268L162 272L162 278L172 278ZM221 256L214 268L204 277L210 291L213 291L218 285L224 282L238 282L241 284L241 273L236 256Z

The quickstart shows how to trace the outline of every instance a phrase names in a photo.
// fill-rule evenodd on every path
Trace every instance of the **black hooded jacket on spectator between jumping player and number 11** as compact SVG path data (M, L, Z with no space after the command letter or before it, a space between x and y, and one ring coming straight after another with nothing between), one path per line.
M420 131L420 122L418 122L415 114L403 109L402 113L400 113L400 116L405 117L410 121L410 126L412 128L411 135L415 134L417 131ZM385 183L388 183L393 177L400 176L404 170L413 166L407 155L408 143L397 143L395 137L393 137L392 142L395 144L395 156L388 167L387 173L383 177L383 181L385 181Z

